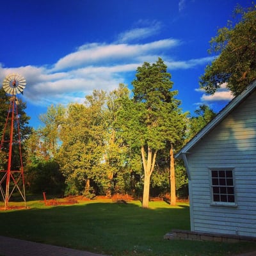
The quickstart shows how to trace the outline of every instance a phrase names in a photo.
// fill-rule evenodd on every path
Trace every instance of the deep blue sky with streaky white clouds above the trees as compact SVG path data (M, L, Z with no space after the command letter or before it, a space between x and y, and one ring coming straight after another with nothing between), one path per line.
M232 95L199 90L218 28L251 0L8 0L1 3L0 80L17 72L30 124L51 104L84 102L96 90L130 89L136 68L161 57L183 111L220 111Z

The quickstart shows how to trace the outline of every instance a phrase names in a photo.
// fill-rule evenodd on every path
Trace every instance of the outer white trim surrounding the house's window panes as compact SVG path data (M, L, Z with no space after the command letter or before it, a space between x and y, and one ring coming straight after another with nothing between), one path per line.
M210 196L211 196L211 206L224 206L224 207L237 207L237 195L236 195L236 177L235 177L235 168L234 167L209 167L209 189L210 189ZM233 184L234 184L234 196L235 196L235 202L215 202L213 200L213 193L212 193L212 170L231 170L232 171L232 177L233 177Z

